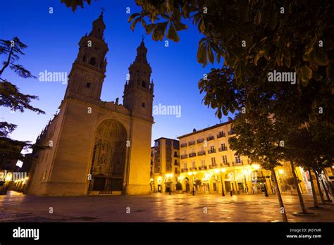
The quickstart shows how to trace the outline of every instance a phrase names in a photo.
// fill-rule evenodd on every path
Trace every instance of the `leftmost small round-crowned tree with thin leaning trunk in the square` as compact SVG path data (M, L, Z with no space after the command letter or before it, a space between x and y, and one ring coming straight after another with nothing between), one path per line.
M280 131L276 122L267 113L240 113L233 122L233 130L237 137L230 137L230 148L238 155L248 156L259 163L262 168L271 171L277 191L280 213L283 222L287 222L284 203L280 195L275 168L283 160L283 149L280 147Z

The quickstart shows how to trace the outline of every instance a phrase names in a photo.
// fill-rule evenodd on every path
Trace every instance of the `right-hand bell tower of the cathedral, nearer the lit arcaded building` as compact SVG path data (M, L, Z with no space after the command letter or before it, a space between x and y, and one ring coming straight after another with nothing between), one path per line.
M123 104L132 115L149 119L152 116L154 84L149 82L152 70L146 55L147 48L142 39L135 62L129 67L130 80L125 82Z

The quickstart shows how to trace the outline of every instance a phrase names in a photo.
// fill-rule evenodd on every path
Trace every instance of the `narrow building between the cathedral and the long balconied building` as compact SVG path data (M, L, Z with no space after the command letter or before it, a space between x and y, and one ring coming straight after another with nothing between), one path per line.
M178 190L180 145L175 139L159 138L151 147L151 192Z

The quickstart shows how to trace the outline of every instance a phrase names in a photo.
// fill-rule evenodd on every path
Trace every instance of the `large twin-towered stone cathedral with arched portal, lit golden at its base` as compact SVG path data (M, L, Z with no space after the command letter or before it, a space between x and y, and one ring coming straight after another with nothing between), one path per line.
M28 194L149 194L153 81L144 41L129 67L123 105L101 101L108 45L103 13L79 42L59 112L37 138Z

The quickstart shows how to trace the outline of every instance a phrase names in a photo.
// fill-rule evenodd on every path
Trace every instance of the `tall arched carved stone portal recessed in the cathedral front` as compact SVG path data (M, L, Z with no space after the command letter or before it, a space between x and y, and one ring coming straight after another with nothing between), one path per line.
M101 122L95 132L89 191L122 191L127 133L117 120Z

